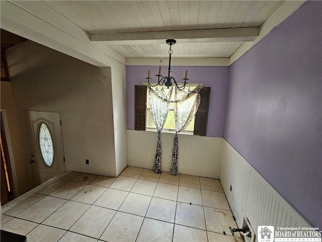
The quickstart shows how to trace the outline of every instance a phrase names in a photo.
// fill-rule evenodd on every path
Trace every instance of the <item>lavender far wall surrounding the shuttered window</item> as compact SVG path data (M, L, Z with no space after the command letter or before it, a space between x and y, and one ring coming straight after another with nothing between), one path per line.
M211 87L210 104L208 113L207 136L223 137L224 117L226 107L227 81L229 67L181 67L173 66L172 75L176 80L185 76L188 70L190 83L203 83ZM158 67L156 66L127 66L126 67L126 96L127 96L127 128L134 130L134 86L146 82L147 72L155 80ZM168 68L163 67L162 75L166 76Z

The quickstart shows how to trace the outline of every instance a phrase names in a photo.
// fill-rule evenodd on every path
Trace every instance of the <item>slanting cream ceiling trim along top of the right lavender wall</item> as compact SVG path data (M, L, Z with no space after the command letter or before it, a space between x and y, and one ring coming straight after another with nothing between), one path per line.
M229 58L229 66L238 58L250 50L254 45L268 35L275 27L286 20L297 9L299 9L306 1L284 1L279 8L261 25L258 38L252 42L245 42L241 45Z

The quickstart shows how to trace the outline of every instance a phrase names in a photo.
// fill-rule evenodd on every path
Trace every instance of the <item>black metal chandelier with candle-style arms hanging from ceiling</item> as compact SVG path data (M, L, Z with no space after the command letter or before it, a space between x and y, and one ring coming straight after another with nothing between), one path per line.
M167 39L166 40L166 43L170 45L170 49L169 49L169 68L168 68L168 76L167 77L164 77L161 75L161 68L162 68L162 60L160 61L160 64L159 64L159 72L157 75L155 75L157 77L157 83L155 85L151 84L150 83L150 70L148 71L147 73L147 83L149 84L150 87L155 87L157 85L159 86L162 86L163 84L165 84L166 87L171 87L172 86L172 82L171 80L174 81L174 83L176 84L176 86L180 89L180 90L183 90L185 87L186 87L186 84L187 81L189 80L187 78L187 75L188 75L188 71L186 70L186 75L185 75L185 78L182 78L182 80L184 81L182 83L182 86L178 86L178 83L176 81L176 79L172 76L172 72L171 72L171 54L172 54L172 45L174 45L177 41L175 39Z

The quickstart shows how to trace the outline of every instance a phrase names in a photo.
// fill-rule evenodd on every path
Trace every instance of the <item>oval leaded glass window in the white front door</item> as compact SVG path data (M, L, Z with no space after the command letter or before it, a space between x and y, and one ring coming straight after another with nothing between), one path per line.
M39 148L43 161L51 166L54 160L54 146L48 126L42 123L39 128Z

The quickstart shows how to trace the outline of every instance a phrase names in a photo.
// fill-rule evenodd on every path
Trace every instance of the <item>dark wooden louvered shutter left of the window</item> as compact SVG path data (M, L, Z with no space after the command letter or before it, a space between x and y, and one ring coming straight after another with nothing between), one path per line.
M146 86L135 85L135 130L145 130Z

